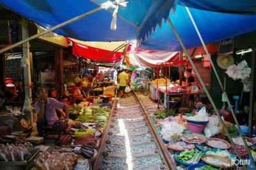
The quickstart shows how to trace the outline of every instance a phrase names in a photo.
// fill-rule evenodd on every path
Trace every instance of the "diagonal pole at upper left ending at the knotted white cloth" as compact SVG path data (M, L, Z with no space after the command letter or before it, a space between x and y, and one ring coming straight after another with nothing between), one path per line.
M0 50L0 54L3 53L3 52L8 51L8 50L10 50L10 49L13 49L13 48L15 48L15 47L17 47L17 46L19 46L19 45L22 45L22 43L29 42L29 41L31 41L31 40L33 40L33 39L35 39L35 38L38 38L39 36L42 36L42 35L45 35L46 33L49 33L49 32L51 32L51 31L54 31L54 29L58 29L58 28L60 28L60 27L66 26L67 24L70 24L70 23L72 23L72 22L75 22L75 21L77 21L77 20L79 20L79 19L83 19L84 17L87 17L88 15L91 15L91 14L93 14L93 13L99 12L100 10L103 10L103 9L100 8L100 7L99 7L99 8L96 8L95 10L92 10L92 11L90 11L90 12L86 12L86 13L84 13L84 14L82 14L82 15L79 15L79 16L77 16L77 17L74 17L73 19L70 19L70 20L67 20L67 21L65 21L65 22L62 22L61 24L58 24L57 26L51 27L51 28L47 29L46 31L44 31L44 32L42 32L42 33L38 33L38 34L36 34L36 35L30 36L29 38L26 38L25 40L22 40L22 41L20 41L20 42L14 43L13 45L9 45L8 47L4 47L3 49Z

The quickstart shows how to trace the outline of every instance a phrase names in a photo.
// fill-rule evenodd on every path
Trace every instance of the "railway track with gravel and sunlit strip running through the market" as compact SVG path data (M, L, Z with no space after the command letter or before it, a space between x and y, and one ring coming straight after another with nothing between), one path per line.
M148 116L154 109L140 93L115 100L93 169L177 169Z

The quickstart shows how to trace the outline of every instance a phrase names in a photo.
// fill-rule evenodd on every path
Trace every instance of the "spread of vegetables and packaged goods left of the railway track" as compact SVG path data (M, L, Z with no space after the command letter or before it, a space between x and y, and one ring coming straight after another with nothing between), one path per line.
M68 107L68 111L69 128L60 136L59 143L54 143L55 138L52 142L52 139L33 136L31 127L1 135L1 168L92 169L111 114L111 102L93 105L84 101Z

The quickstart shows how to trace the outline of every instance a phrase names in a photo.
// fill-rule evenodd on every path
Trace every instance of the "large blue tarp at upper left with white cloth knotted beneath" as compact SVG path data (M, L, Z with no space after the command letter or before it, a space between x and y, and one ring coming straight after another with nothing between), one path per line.
M117 28L110 29L113 8L101 10L72 24L53 31L77 40L105 42L141 40L152 28L167 19L173 0L127 0L126 7L119 5ZM95 8L106 0L1 0L0 4L13 12L28 17L45 28L56 26Z

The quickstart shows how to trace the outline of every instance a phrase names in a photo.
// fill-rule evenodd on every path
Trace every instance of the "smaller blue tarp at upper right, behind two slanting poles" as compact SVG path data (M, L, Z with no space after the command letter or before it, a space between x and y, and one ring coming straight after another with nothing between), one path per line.
M206 44L256 30L256 15L209 12L195 8L189 8L189 11ZM170 20L187 49L202 45L184 6L177 5L175 13L170 13ZM140 45L140 49L182 50L168 22L163 23L161 28L157 26L156 30Z

